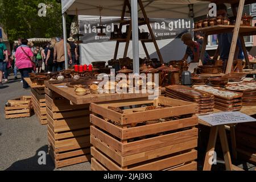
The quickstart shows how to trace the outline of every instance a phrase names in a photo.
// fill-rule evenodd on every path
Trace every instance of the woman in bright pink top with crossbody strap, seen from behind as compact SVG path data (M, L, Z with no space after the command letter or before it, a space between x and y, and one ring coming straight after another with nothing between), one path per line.
M29 73L32 72L34 55L31 49L27 46L28 40L22 39L22 45L16 49L16 67L19 69L22 81L23 81L23 90L27 90L30 86L24 80L24 78L30 77Z

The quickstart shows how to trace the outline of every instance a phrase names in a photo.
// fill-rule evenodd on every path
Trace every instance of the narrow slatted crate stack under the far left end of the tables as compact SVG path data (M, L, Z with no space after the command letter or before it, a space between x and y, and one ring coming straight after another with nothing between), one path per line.
M32 92L32 105L39 122L42 125L47 125L46 118L46 98L44 96L44 87L42 88L31 88Z

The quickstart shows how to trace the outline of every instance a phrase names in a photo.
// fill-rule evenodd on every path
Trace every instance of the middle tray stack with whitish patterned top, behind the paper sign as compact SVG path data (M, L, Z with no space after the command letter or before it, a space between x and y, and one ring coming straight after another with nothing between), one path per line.
M214 108L222 111L238 111L242 109L242 93L212 88L211 86L196 86L194 89L214 94Z

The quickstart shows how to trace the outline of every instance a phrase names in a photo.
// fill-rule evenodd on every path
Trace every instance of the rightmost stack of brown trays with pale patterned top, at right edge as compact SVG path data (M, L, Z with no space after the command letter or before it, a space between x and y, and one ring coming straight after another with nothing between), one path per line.
M242 82L226 86L226 89L243 94L243 106L256 106L256 82Z

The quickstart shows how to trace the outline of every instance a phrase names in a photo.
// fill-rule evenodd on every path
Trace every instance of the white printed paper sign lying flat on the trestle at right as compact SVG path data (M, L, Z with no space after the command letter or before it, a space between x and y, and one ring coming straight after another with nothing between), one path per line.
M200 115L199 119L212 126L228 125L233 123L255 122L256 119L240 112L222 112L209 115Z

